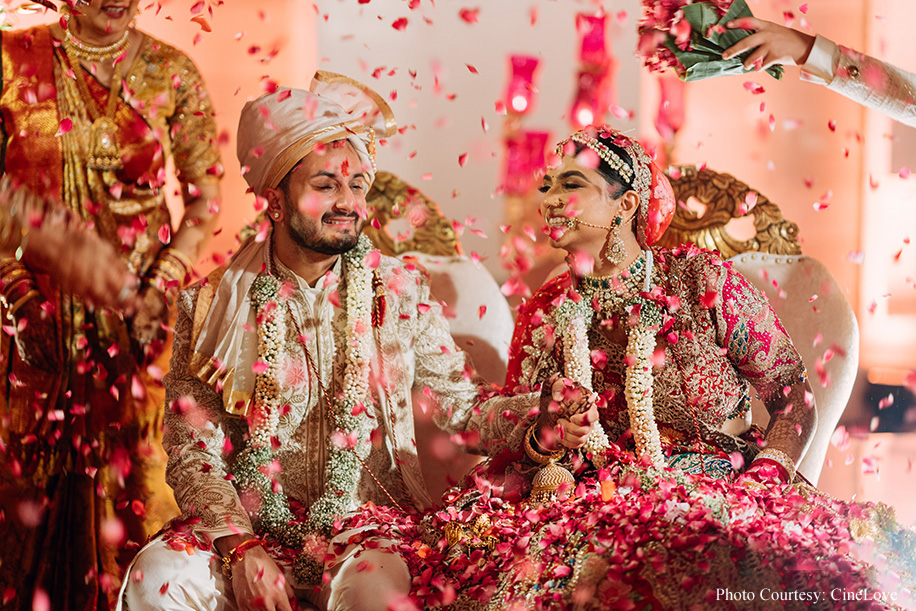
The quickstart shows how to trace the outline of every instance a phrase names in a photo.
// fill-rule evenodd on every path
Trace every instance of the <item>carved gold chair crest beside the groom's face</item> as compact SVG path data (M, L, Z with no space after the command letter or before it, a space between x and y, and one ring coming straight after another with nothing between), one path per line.
M379 172L366 195L369 222L363 230L383 254L423 252L440 257L460 255L461 244L439 206L390 172ZM410 232L391 234L389 223L405 219Z

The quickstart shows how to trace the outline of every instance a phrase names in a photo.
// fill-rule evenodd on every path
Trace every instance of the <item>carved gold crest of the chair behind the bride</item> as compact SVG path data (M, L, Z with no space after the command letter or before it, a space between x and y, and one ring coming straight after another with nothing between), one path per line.
M701 248L718 250L726 259L750 251L801 254L798 225L787 221L779 207L766 196L731 174L682 165L673 166L669 178L678 206L671 226L659 240L660 246L673 248L693 242ZM757 204L747 210L746 197L750 191L757 193ZM691 197L706 206L702 216L683 205ZM727 225L732 219L747 214L754 217L757 235L740 240L728 232Z

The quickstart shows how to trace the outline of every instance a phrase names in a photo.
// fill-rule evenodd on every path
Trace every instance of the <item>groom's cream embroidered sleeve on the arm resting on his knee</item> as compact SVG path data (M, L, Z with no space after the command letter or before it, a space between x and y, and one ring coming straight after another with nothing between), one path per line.
M230 437L236 442L244 425L223 411L221 398L206 384L188 373L189 340L196 302L194 289L181 293L175 340L169 373L163 379L166 391L164 436L168 454L166 480L185 516L200 516L199 529L211 539L254 532L238 493L227 479L225 452Z

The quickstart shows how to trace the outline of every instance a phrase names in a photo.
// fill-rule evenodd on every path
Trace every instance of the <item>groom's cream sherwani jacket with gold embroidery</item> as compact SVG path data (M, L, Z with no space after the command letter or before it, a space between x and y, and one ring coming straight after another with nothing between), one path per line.
M391 401L390 404L387 402L384 392L373 390L374 405L367 408L374 410L378 438L366 464L398 503L425 507L431 503L431 499L425 489L416 456L412 391L422 393L429 388L430 394L436 398L429 404L435 422L450 434L478 432L478 447L490 451L494 448L495 451L501 451L507 444L521 447L522 434L530 424L526 417L537 397L530 394L497 396L487 403L478 403L477 383L481 381L467 371L467 356L455 346L447 321L441 315L441 306L429 295L428 280L419 272L407 271L400 261L389 257L382 257L379 273L386 286L389 283L397 284L400 289L387 296L388 311L378 333L381 350L385 353L381 367L376 348L372 349L370 384L377 389L379 383L388 380L388 396ZM188 352L192 345L189 344L189 338L194 334L191 321L192 318L201 320L194 314L195 299L201 290L198 286L191 287L179 298L175 350L171 370L165 379L170 402L183 396L191 397L200 411L198 418L192 418L190 414L181 411L168 411L164 445L169 452L169 481L175 487L182 511L185 516L200 516L202 520L195 527L196 531L212 538L231 533L232 528L228 524L246 531L252 531L253 527L232 482L225 479L237 452L244 447L247 425L243 419L227 414L215 389L195 377L188 369ZM327 292L334 290L340 291L343 302L345 283L343 286L334 283L327 287ZM293 299L298 303L298 298ZM336 355L338 351L335 346L346 340L343 337L344 313L342 309L328 303L326 296L320 297L318 301L317 338L309 344L309 349L318 353L313 352L322 382L329 389L338 388L335 380L341 375L341 359L344 357L328 355ZM424 307L418 307L421 304ZM429 307L426 308L426 305ZM302 332L309 335L305 328ZM301 354L298 344L291 345L291 342L296 341L297 338L287 337L288 353L292 353L295 348ZM235 365L251 367L251 363ZM312 398L316 394L314 390L308 392L308 401L301 400L306 394L303 390L284 397L291 410L288 416L280 419L278 428L283 448L278 453L282 469L278 479L289 498L308 505L308 501L316 498L322 490L320 486L323 485L323 476L318 469L323 468L326 458L315 454L313 448L316 444L324 447L327 423L323 425L325 428L322 431L315 431L315 420L310 414L323 410L313 409L317 404L317 399ZM393 417L386 410L392 410ZM516 417L502 416L510 412ZM231 441L229 446L225 445L227 439ZM402 461L400 473L394 465L394 443L398 444L398 454ZM231 450L224 454L224 447ZM314 481L316 478L319 480L317 483ZM378 505L390 503L365 471L353 494L356 506L366 501Z

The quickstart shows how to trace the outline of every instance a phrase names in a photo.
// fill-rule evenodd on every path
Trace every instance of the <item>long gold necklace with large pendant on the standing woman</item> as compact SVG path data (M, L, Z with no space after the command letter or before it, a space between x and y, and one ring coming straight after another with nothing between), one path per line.
M67 35L69 36L69 32ZM86 79L89 77L83 74L85 71L79 63L76 47L68 44L64 44L64 47L67 59L70 61L70 69L73 70L73 76L76 78L76 86L79 89L80 98L82 98L83 104L85 104L86 110L92 119L92 126L89 128L88 166L93 170L120 170L123 167L123 162L121 161L121 145L118 142L118 124L115 122L114 116L121 94L121 81L123 79L121 67L118 65L113 66L111 88L108 92L108 105L103 115L95 103L95 98L89 92L89 85L86 84ZM125 42L122 52L126 53L129 47L130 43Z

